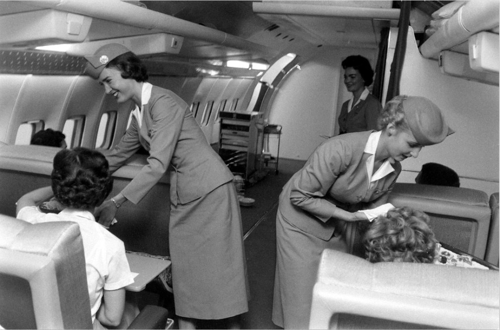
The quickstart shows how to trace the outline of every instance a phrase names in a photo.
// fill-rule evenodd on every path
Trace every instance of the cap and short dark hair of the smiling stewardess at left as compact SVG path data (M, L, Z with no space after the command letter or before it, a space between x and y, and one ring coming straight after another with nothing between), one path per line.
M84 57L88 61L84 72L94 79L98 79L105 68L113 68L124 79L134 79L137 82L147 80L147 70L142 61L120 43L103 45L93 55Z

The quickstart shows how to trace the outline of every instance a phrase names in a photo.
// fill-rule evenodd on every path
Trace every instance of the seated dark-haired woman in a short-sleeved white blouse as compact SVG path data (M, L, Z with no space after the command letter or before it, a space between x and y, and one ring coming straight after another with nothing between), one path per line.
M101 324L116 326L123 315L124 287L133 282L133 275L123 242L96 222L92 214L112 189L107 160L95 150L63 149L54 157L51 180L51 187L28 192L17 201L17 218L31 223L79 224L94 328L102 328ZM66 208L58 214L41 212L36 205L52 195Z

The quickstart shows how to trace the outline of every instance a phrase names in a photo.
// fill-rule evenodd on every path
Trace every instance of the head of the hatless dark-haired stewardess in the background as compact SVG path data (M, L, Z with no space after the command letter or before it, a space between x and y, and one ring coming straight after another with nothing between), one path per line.
M349 91L364 88L373 82L373 69L370 62L361 55L347 56L342 61L342 68L345 70L344 83ZM355 78L356 73L361 79Z

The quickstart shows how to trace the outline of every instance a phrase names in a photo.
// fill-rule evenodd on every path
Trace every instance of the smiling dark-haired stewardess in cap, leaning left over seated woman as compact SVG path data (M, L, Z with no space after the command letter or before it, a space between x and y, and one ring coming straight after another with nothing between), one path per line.
M237 327L236 316L248 310L248 293L232 173L206 141L186 102L146 82L145 66L129 49L107 44L85 58L85 73L107 94L118 103L135 103L130 126L107 156L110 170L141 146L149 152L141 171L98 209L99 222L109 225L127 200L138 203L171 165L168 238L179 327L222 318Z

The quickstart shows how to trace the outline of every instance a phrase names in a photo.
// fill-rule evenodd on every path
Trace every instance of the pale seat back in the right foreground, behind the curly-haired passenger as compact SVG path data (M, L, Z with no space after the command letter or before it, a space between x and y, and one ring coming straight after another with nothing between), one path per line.
M321 255L309 328L498 328L498 271Z

